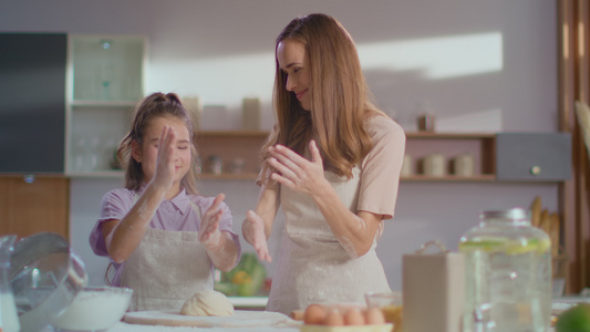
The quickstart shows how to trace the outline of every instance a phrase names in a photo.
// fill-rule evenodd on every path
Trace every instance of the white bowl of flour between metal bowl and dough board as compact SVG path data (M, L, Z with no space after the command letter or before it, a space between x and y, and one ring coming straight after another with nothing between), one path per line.
M133 290L120 287L86 287L52 323L61 331L102 331L121 321Z

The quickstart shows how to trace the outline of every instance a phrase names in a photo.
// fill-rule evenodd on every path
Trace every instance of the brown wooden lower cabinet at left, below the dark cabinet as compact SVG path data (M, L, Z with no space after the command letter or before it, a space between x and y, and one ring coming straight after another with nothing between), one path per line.
M68 239L69 195L65 177L0 177L0 235L51 231Z

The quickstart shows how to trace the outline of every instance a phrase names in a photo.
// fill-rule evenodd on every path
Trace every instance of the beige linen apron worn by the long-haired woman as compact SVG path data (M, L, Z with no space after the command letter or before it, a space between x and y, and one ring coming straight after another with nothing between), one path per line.
M324 176L344 206L356 214L359 167L349 181L330 172ZM376 236L369 252L352 259L309 195L281 186L280 196L286 221L267 310L289 314L311 303L364 304L365 293L391 290L375 253Z

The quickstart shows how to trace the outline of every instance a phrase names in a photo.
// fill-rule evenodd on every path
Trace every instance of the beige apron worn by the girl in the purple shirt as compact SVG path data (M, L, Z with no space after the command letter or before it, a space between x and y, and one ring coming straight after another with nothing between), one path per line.
M121 286L133 289L131 311L179 311L194 293L213 289L211 261L198 232L149 227L125 261Z

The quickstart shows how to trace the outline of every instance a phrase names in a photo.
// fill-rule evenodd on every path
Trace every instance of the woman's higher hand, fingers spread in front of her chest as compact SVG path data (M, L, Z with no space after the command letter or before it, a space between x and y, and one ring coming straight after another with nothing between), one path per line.
M268 163L277 170L271 178L281 185L311 195L317 193L317 186L325 180L323 162L315 141L309 143L311 162L282 145L270 147L269 151L272 157Z

